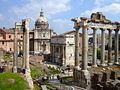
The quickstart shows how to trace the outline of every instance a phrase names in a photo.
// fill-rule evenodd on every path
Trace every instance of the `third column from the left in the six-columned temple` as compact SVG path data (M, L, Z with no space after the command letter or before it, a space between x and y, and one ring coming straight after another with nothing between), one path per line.
M96 34L97 29L93 28L93 62L92 66L97 67L97 34Z

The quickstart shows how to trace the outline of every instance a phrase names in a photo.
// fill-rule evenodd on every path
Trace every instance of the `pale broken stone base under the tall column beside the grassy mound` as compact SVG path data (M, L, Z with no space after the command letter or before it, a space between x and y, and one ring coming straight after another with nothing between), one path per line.
M30 70L29 70L29 69L25 69L25 79L26 79L26 81L28 82L28 85L29 85L29 87L30 87L30 90L33 90L33 89L34 89L33 80L32 80L32 77L31 77L31 74L30 74Z

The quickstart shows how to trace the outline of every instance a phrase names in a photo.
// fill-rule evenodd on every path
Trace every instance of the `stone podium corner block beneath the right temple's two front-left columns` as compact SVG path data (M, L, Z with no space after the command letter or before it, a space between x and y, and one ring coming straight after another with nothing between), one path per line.
M88 70L74 70L74 80L77 82L77 86L85 89L91 88L91 78Z

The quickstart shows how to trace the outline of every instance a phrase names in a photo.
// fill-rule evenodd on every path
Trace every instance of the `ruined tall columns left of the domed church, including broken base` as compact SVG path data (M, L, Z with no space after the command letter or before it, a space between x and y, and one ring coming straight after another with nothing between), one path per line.
M23 29L23 61L21 71L24 74L26 81L30 89L33 89L33 81L30 75L29 66L29 22L30 19L22 20ZM18 42L17 42L17 30L15 28L15 38L14 38L14 59L13 59L13 73L18 73Z

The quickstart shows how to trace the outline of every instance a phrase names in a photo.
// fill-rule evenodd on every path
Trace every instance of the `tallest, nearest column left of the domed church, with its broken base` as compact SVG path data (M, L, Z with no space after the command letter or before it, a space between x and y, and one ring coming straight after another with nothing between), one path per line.
M33 81L32 81L32 77L30 74L30 66L29 66L29 21L30 19L24 19L22 20L22 25L23 25L23 31L25 34L25 48L24 48L24 59L25 59L25 79L28 82L28 85L30 87L30 90L33 90L34 86L33 86Z

